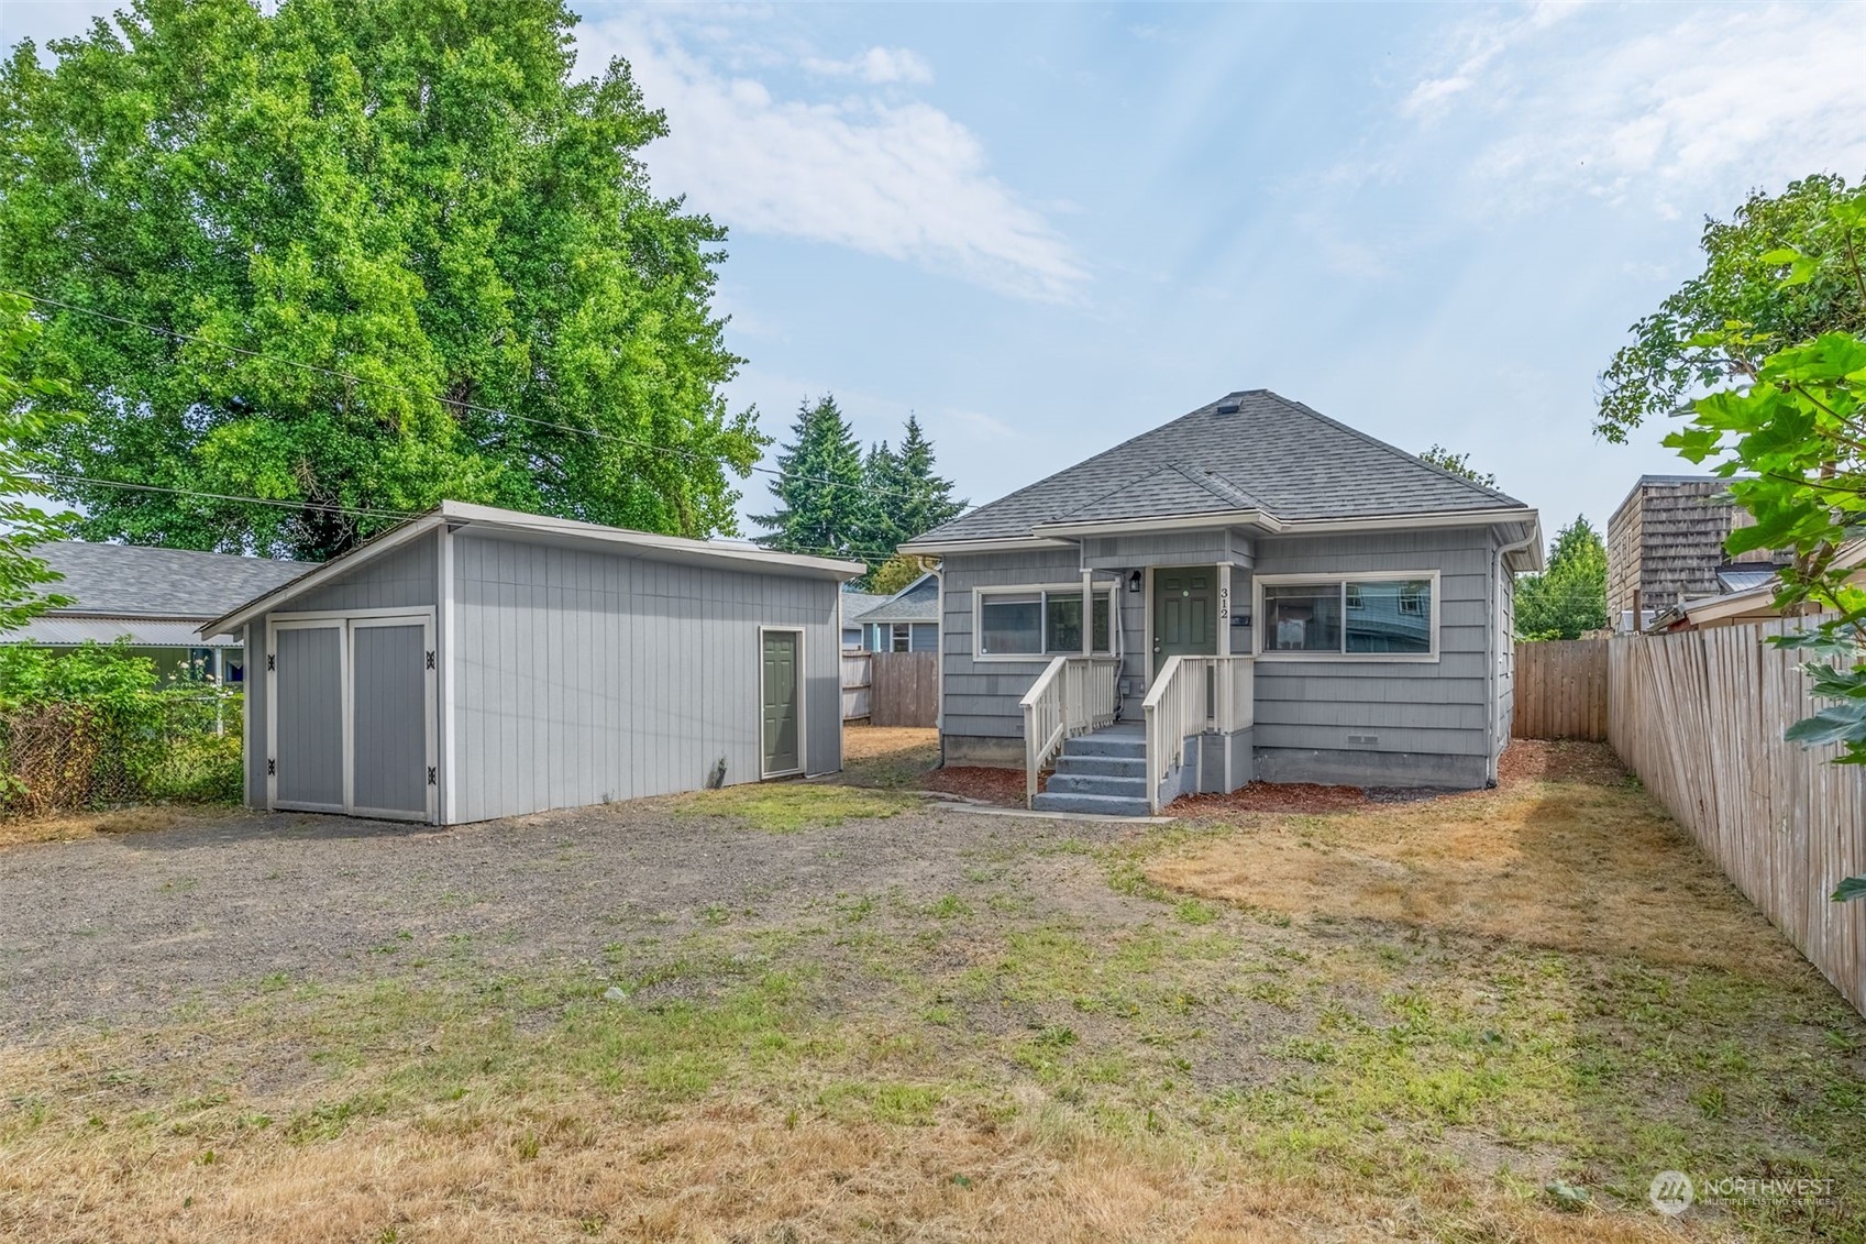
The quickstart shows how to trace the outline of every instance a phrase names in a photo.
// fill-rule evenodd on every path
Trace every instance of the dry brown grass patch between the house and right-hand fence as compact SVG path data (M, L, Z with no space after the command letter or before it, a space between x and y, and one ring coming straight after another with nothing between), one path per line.
M1801 960L1610 753L1525 749L1502 790L1353 816L1261 816L1148 874L1297 917L1398 921L1752 973ZM1605 756L1605 758L1603 758ZM1547 771L1581 773L1539 781ZM1732 947L1745 947L1732 962Z

